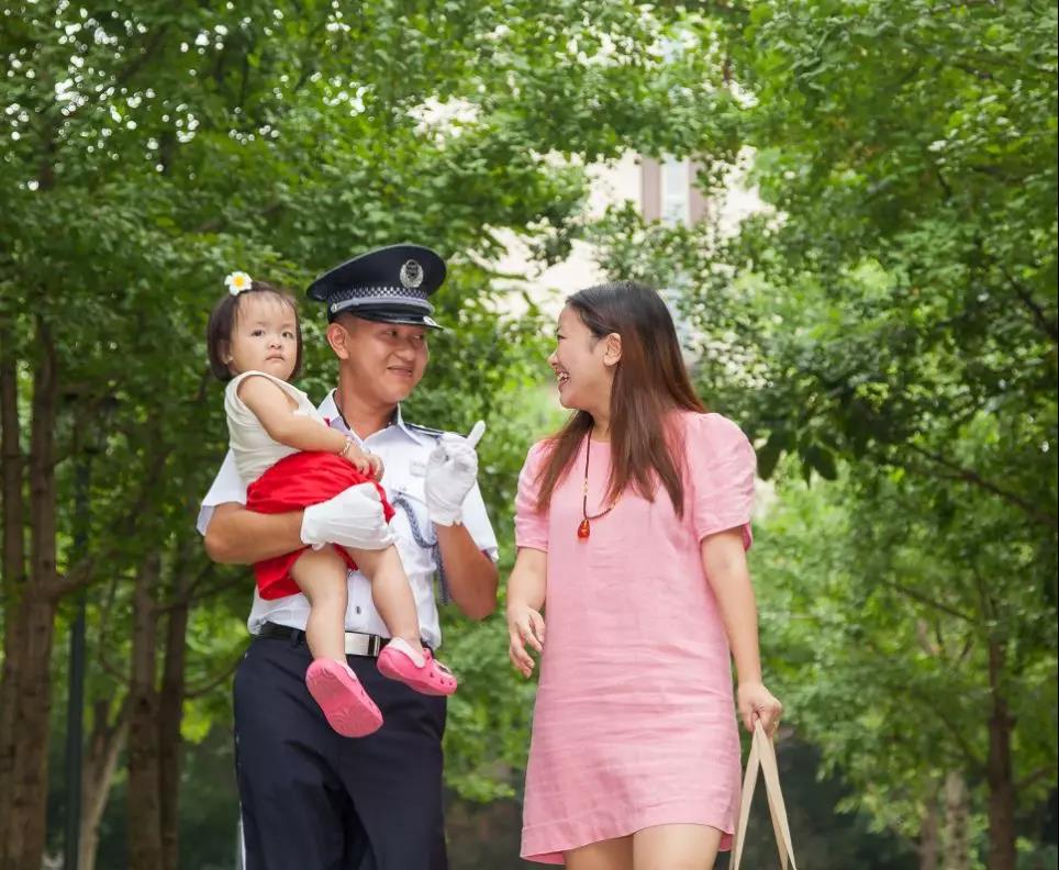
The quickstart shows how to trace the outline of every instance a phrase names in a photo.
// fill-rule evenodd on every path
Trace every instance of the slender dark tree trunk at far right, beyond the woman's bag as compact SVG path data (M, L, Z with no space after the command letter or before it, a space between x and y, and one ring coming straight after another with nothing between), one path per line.
M989 870L1015 870L1015 781L1012 774L1011 735L1015 727L1001 681L1006 663L1004 646L989 642L989 687L993 711L989 717Z

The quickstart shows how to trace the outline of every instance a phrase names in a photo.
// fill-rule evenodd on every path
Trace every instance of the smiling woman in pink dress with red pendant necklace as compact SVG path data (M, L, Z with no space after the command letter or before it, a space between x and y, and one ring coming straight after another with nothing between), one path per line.
M706 413L654 290L575 293L549 364L575 414L530 450L508 587L512 662L542 652L522 854L706 870L738 812L735 707L748 728L781 713L745 555L754 448Z

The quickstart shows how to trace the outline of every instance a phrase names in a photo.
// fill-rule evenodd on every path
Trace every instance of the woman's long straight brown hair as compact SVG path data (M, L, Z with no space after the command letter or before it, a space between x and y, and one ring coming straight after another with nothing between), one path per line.
M580 290L566 304L597 341L611 333L622 337L622 358L611 389L611 475L604 502L628 487L654 501L660 481L681 516L682 444L672 426L672 412L706 409L691 386L666 303L649 287L616 281ZM592 423L591 414L577 411L551 437L538 477L538 511L547 509L556 486L569 473Z

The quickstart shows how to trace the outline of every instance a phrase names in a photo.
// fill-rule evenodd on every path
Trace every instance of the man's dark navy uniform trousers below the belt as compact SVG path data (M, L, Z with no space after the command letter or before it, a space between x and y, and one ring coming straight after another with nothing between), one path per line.
M303 635L258 638L235 673L246 870L447 870L445 699L349 656L384 722L367 737L343 737L305 688L311 660Z

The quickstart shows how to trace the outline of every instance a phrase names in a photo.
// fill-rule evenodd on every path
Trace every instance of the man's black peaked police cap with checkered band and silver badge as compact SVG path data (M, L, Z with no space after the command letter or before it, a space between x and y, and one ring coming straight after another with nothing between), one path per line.
M353 314L382 323L442 328L427 298L445 280L445 260L422 245L390 245L335 266L309 286L327 320Z

